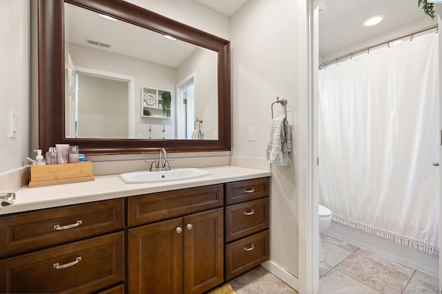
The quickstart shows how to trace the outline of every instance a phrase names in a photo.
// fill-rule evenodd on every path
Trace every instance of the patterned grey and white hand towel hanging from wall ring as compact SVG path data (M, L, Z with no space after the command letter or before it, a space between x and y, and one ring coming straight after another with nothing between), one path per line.
M271 120L269 143L267 144L267 160L277 165L288 165L290 163L289 152L291 151L290 137L287 118L273 118Z

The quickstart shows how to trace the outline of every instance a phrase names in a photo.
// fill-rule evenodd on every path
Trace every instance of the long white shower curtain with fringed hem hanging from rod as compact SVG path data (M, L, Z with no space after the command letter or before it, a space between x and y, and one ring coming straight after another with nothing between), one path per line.
M319 73L320 204L334 220L439 254L436 33Z

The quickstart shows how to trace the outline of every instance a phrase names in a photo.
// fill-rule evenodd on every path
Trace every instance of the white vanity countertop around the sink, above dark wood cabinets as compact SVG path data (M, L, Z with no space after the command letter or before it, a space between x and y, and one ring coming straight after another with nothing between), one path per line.
M202 169L211 174L202 178L146 184L126 184L119 175L111 175L97 176L90 182L37 188L26 186L15 192L14 204L0 207L0 215L271 176L271 171L232 165Z

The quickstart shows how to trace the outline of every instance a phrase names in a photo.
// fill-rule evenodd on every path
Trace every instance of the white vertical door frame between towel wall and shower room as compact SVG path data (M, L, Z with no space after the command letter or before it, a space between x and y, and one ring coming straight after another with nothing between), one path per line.
M318 6L298 1L298 292L318 293ZM304 14L304 15L302 15ZM302 140L305 138L306 140Z

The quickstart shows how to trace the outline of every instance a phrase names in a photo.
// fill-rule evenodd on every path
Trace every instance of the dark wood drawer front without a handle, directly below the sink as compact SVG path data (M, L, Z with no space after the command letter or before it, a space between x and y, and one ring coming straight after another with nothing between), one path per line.
M128 198L129 227L222 207L224 185L211 185Z

